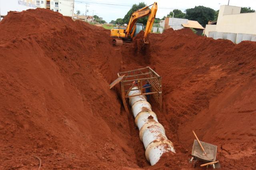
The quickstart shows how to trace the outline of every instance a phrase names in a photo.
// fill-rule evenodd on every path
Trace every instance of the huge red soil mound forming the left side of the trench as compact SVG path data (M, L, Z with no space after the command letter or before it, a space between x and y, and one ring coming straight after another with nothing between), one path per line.
M109 32L40 8L0 29L0 169L138 168Z

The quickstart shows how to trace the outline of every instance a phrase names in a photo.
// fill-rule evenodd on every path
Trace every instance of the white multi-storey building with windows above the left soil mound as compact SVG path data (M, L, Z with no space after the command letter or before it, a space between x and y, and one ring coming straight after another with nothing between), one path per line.
M74 0L36 0L36 8L46 8L72 17Z

